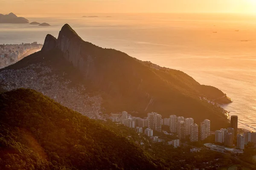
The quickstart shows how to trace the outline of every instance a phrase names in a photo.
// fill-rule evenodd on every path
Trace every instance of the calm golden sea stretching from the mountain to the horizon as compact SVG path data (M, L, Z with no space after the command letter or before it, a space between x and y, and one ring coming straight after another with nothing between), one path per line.
M238 14L84 14L32 16L29 24L0 24L0 44L44 42L65 23L86 41L184 71L233 99L223 107L239 127L256 131L256 16ZM90 15L90 14L87 14ZM95 14L93 14L95 15ZM107 17L111 16L111 17ZM217 32L217 33L214 33Z

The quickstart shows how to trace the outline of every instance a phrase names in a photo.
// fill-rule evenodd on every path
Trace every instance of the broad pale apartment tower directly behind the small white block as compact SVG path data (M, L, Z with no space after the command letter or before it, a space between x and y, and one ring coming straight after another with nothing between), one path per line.
M148 128L156 130L158 132L162 131L162 116L158 113L148 113Z

